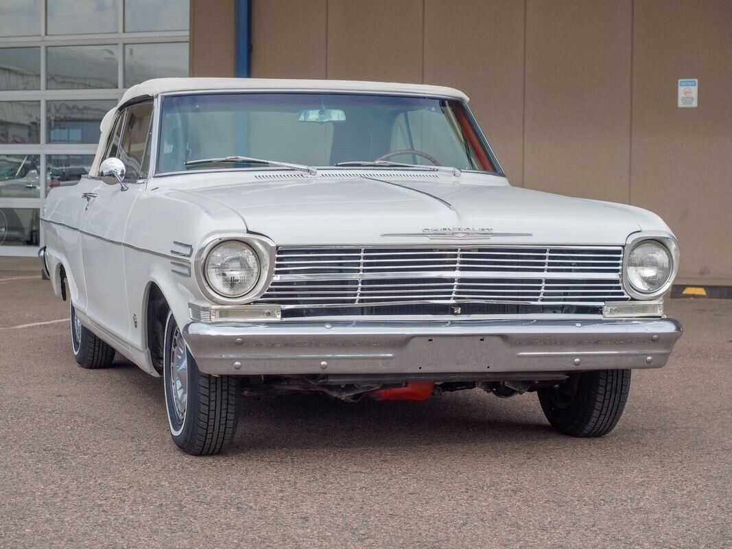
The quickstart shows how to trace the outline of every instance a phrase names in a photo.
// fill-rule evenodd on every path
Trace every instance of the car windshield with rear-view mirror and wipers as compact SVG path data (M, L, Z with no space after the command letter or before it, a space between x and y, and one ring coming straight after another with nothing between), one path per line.
M459 100L318 93L163 99L157 173L268 167L226 157L273 166L402 163L497 171Z

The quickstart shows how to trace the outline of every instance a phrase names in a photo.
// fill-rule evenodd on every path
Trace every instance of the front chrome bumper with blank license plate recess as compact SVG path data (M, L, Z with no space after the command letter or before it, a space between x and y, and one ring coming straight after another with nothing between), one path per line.
M424 375L662 367L681 332L667 318L191 322L184 339L209 374Z

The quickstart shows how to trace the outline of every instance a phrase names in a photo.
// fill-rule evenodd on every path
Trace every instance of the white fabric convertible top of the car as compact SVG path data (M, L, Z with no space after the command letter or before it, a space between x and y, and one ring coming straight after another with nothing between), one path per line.
M467 101L468 96L454 88L428 86L426 84L400 84L394 82L366 82L350 80L292 80L288 78L153 78L136 84L124 92L115 108L102 119L102 137L106 135L114 119L114 113L124 103L137 97L156 97L176 91L214 91L214 90L266 90L266 91L365 91L384 94L419 94L438 97L455 97ZM100 163L102 141L92 168L97 170Z

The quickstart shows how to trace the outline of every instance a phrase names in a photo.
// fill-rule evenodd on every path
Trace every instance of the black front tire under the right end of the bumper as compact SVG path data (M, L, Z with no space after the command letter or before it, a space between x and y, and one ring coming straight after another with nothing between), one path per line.
M559 386L539 389L539 403L552 427L569 436L603 436L623 414L630 370L573 374Z

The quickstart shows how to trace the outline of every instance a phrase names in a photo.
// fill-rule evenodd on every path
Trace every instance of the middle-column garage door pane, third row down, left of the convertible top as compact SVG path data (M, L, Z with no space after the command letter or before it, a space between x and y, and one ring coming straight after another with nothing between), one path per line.
M114 100L48 101L48 143L97 143L102 118Z

